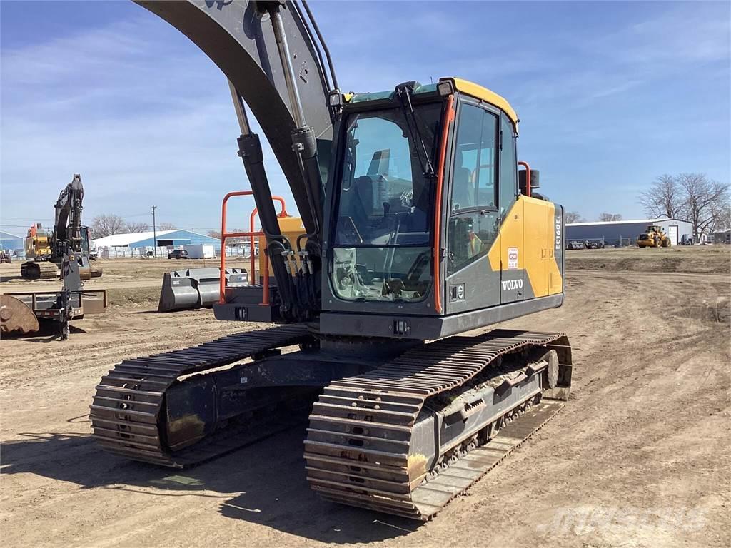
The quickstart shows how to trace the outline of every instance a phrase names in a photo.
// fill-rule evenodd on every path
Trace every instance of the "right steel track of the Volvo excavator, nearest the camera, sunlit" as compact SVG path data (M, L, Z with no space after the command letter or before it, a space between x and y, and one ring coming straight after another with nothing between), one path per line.
M486 444L461 451L461 458L459 452L452 454L436 474L426 469L428 458L415 453L412 445L425 403L463 387L504 354L567 346L566 336L560 333L496 330L480 337L439 340L369 373L333 381L310 416L305 441L308 482L328 501L431 519L564 404L541 402L526 411L540 397L526 395L518 407L482 425L491 433ZM494 434L494 427L504 425L506 416L512 419L518 413L518 419ZM436 461L443 456L436 455Z

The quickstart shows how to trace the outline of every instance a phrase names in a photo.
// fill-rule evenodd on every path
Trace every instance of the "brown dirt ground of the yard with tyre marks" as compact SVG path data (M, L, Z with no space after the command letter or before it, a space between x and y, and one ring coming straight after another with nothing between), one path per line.
M152 282L169 262L112 263L95 285L148 280L154 298L120 287L66 343L1 342L4 546L731 544L728 247L569 252L564 306L502 325L568 333L572 399L425 524L317 498L303 427L185 471L98 449L88 405L111 365L242 330L211 311L154 313ZM4 279L12 268L2 265Z

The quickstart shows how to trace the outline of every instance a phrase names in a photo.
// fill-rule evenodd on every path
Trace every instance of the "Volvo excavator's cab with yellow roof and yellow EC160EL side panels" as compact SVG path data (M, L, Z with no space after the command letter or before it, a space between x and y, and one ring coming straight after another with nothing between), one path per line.
M531 197L525 162L519 186L505 99L458 78L346 99L325 192L323 330L439 338L561 305L563 210Z

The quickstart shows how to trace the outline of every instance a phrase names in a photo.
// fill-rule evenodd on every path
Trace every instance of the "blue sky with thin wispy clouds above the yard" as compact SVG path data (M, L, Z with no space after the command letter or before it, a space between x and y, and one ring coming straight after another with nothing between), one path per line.
M730 182L728 2L311 2L341 88L455 75L507 97L520 159L588 219L642 218L664 172ZM346 27L343 22L349 21ZM0 1L0 224L48 224L72 173L84 218L200 231L247 188L219 69L128 1ZM275 193L289 197L271 153ZM289 200L292 203L292 200ZM244 226L251 206L234 210ZM233 224L236 224L235 221Z

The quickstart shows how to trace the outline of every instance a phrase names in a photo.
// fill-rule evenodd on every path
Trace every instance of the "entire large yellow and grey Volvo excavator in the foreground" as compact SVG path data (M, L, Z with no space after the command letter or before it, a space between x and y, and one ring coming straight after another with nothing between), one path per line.
M91 405L96 441L180 468L308 417L322 497L430 519L569 395L566 335L466 334L564 299L564 211L531 195L515 110L454 77L342 93L304 1L137 3L230 82L251 191L224 198L222 232L227 200L251 194L268 264L260 283L221 280L216 317L279 325L116 365ZM292 190L296 237L247 107Z

